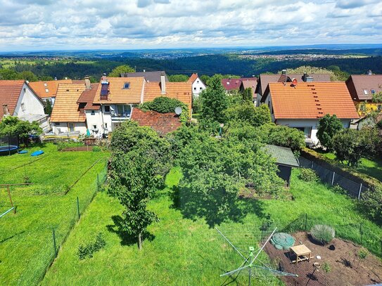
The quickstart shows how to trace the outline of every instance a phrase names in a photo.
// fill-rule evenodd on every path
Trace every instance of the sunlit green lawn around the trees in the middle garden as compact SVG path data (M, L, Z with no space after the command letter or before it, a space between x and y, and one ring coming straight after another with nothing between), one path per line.
M381 237L382 229L357 213L355 200L333 193L321 183L300 181L297 175L298 170L294 170L291 181L294 200L242 201L250 210L242 223L227 222L219 228L236 226L244 230L246 226L260 226L266 214L271 214L276 224L286 226L307 213L308 223L314 218L314 223L331 224L343 238L358 241L357 228L336 226L361 222L364 228ZM172 207L170 188L180 176L179 169L172 169L167 176L167 188L151 202L149 207L158 214L160 222L148 228L153 240L145 240L141 252L136 245L126 245L111 230L112 217L123 211L120 203L106 193L98 193L42 285L222 285L227 282L219 275L240 265L241 259L204 219L191 221L182 215L182 209ZM93 258L79 261L79 244L94 238L98 232L104 234L106 247ZM233 285L246 285L246 281L242 277ZM255 285L280 283L276 278L262 278Z

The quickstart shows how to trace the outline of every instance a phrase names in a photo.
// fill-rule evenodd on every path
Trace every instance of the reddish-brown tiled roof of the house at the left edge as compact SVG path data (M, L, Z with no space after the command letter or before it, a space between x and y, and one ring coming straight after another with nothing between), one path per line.
M4 116L3 105L8 105L11 115L15 112L24 80L0 80L0 120Z

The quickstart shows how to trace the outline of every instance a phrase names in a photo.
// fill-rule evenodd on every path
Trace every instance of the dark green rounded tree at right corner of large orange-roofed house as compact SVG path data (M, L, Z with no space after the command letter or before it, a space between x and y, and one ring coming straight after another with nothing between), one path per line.
M333 149L333 136L343 130L343 124L336 115L325 115L319 119L317 138L319 143L331 151Z

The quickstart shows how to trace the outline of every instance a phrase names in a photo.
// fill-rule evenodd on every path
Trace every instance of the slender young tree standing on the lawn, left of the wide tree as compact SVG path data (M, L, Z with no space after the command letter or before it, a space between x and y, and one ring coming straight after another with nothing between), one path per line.
M147 226L158 221L158 216L148 211L147 203L163 182L155 169L155 159L147 148L130 152L116 152L110 162L110 192L125 207L122 213L122 230L136 239L142 249Z

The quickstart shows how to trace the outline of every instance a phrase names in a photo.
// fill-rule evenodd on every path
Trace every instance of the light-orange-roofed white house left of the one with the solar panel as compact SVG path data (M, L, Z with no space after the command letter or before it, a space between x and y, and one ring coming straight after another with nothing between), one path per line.
M51 122L54 134L61 133L87 133L87 117L84 105L78 100L87 89L85 84L59 84L56 93L56 102L51 113Z

